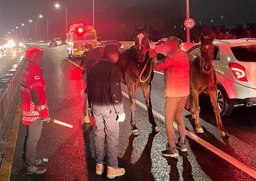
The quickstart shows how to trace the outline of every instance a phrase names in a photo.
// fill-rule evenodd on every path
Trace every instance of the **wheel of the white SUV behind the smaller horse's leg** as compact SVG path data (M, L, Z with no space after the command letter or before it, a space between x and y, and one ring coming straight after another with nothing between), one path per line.
M234 107L227 103L226 95L219 85L217 85L217 102L221 111L221 116L228 116L232 113Z

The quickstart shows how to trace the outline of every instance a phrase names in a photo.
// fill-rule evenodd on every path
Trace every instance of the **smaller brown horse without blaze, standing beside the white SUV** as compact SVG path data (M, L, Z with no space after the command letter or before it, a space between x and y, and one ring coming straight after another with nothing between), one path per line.
M216 115L217 125L220 129L220 133L222 137L228 137L228 133L225 130L221 116L220 109L217 104L217 79L216 73L214 71L214 67L212 64L212 57L214 53L214 45L213 41L215 39L215 35L211 37L206 37L201 35L201 54L199 57L193 57L189 55L190 60L190 87L191 93L193 96L193 102L191 105L191 113L192 117L195 119L196 124L196 132L203 133L203 128L200 125L199 121L199 95L202 92L207 92L210 96L212 107L214 108L214 112Z

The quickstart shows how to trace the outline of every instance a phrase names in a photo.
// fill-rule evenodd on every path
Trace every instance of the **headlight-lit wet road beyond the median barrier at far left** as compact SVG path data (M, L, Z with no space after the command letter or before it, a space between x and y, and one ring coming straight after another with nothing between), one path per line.
M23 52L24 50L22 49L8 49L5 52L0 52L0 76L11 68L12 64L18 60L19 56L22 55Z

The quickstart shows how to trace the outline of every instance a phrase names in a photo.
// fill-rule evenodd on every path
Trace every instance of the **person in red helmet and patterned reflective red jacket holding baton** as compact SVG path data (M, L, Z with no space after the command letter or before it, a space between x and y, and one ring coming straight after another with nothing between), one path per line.
M37 142L40 139L42 123L49 123L49 111L46 99L46 81L41 69L44 51L39 48L30 48L26 51L29 61L27 68L20 78L22 99L22 123L27 125L25 138L25 167L27 174L45 173L46 168L39 167L41 160L35 158Z

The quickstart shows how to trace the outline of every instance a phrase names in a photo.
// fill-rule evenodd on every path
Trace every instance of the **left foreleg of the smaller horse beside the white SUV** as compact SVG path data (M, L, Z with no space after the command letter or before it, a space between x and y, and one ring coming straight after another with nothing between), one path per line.
M195 90L192 90L192 94L193 94L193 102L194 102L194 115L196 115L196 119L195 119L195 124L196 124L196 132L197 133L203 133L203 128L200 124L200 119L199 119L199 114L200 114L200 106L199 106L199 95L200 93L198 93Z

